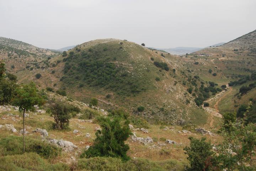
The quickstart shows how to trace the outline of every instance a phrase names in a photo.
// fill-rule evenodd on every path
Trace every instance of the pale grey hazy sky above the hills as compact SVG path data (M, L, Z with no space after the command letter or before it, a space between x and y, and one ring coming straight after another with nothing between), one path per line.
M0 0L0 37L59 49L117 38L205 47L256 29L256 0Z

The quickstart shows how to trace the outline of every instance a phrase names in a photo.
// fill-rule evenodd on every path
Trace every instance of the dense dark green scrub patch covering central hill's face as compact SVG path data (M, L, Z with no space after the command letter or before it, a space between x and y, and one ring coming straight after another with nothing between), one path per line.
M109 50L104 51L104 48ZM127 66L122 65L122 62L129 61L128 56L127 51L119 50L119 44L110 43L98 44L79 53L70 52L63 60L65 66L62 81L69 87L84 83L91 88L111 89L125 96L142 92L147 87L145 82L149 80L138 77L138 71L134 71L135 75L127 71Z

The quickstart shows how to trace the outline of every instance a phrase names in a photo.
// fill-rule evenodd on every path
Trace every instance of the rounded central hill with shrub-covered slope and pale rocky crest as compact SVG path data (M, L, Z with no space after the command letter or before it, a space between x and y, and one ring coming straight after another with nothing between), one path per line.
M48 67L26 69L16 75L19 82L34 81L54 91L63 89L70 98L85 103L96 97L104 109L125 107L151 122L204 124L207 113L194 102L204 81L194 77L186 63L179 56L125 40L100 39L78 45L66 56L49 59ZM37 79L36 73L42 77ZM190 87L195 89L194 96L187 92ZM145 110L138 111L139 106Z

